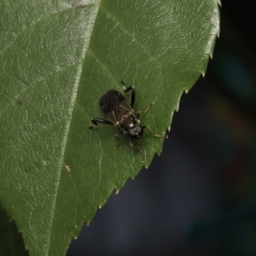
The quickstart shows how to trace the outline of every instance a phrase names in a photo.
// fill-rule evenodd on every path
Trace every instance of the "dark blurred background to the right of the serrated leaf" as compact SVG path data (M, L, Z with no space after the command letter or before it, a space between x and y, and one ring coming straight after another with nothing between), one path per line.
M183 96L163 154L84 225L67 256L256 255L254 1L222 1L205 79Z

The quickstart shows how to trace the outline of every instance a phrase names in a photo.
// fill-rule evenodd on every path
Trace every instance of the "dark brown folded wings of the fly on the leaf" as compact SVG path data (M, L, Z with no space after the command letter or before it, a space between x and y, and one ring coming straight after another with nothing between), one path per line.
M100 99L100 107L113 125L122 119L125 114L133 112L125 96L117 90L108 90Z

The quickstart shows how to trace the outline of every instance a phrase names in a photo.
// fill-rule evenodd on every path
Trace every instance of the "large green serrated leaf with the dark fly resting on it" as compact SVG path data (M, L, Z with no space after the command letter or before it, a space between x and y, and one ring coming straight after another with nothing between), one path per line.
M31 256L65 255L113 189L142 168L129 139L98 125L99 97L137 90L142 124L164 135L206 72L218 0L0 0L0 201ZM107 127L106 127L107 126ZM147 166L163 139L135 144Z

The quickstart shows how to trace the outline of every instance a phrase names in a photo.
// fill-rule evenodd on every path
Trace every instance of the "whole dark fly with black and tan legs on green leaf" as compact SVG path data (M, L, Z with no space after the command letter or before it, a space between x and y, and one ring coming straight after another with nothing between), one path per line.
M154 105L154 103L151 103L145 111L135 113L133 109L135 102L135 89L133 86L126 88L125 83L123 81L121 81L121 83L123 84L123 89L125 92L131 90L131 103L129 103L125 96L123 96L118 90L108 90L107 93L104 94L100 99L100 107L108 119L91 119L93 125L89 128L94 128L95 125L98 125L98 123L118 127L120 131L114 135L114 137L116 137L116 139L119 141L116 148L118 148L120 144L120 139L118 136L121 134L127 134L131 138L131 147L137 148L140 151L143 157L143 162L145 162L143 149L134 146L133 140L141 137L145 128L148 128L148 130L151 131L148 125L140 125L139 115L140 113L146 113L148 109ZM151 131L151 133L154 137L164 137L154 134L153 131Z

